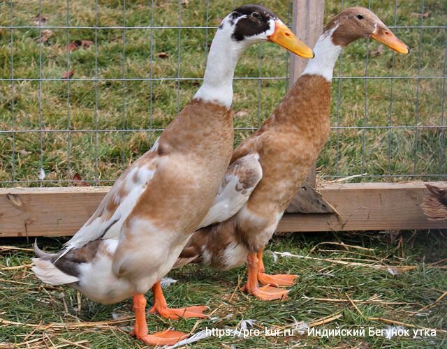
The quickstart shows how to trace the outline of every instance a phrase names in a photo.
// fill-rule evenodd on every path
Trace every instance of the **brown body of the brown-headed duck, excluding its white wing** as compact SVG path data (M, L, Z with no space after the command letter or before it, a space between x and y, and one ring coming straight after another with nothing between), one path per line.
M247 253L260 251L328 140L329 113L330 82L318 75L300 77L263 126L233 151L231 163L259 154L263 177L247 204L227 221L198 230L180 257L196 254L193 262L230 269ZM244 251L230 260L232 244Z

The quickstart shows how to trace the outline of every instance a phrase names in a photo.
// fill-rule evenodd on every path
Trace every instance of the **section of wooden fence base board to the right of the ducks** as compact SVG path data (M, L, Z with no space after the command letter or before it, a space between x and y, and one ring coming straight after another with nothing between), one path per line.
M430 184L447 188L447 182ZM320 192L342 221L335 214L287 214L278 231L447 229L447 219L429 221L424 215L425 191L423 182L330 184Z

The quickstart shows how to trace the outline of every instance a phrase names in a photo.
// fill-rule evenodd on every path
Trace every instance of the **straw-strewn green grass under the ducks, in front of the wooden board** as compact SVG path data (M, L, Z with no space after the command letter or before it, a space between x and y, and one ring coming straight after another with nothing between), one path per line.
M278 258L274 262L270 252L265 252L268 272L288 272L298 274L298 284L291 288L289 299L285 302L261 302L247 297L237 290L246 280L245 269L240 267L230 272L215 272L212 269L188 266L175 270L169 276L177 283L166 289L166 298L170 306L206 304L215 311L210 320L204 320L196 327L235 328L243 319L254 319L263 327L285 326L298 322L312 322L328 315L341 313L342 317L318 329L359 329L361 326L385 329L386 323L367 318L386 318L405 322L417 327L447 330L446 298L430 310L419 311L433 304L447 290L447 277L444 263L437 268L430 267L433 262L447 258L446 232L389 232L351 233L351 234L293 234L288 237L275 237L268 246L270 251L289 251L296 255L331 260L353 261L368 265L414 265L416 269L393 276L389 272L371 267L352 267L338 265L323 260ZM62 239L40 239L41 246L47 250L61 247ZM321 242L343 242L344 244L366 248L342 248L338 245L320 244ZM31 243L24 239L3 239L2 245L29 248ZM318 246L317 246L318 245ZM7 251L0 248L0 318L22 324L49 324L50 322L105 321L112 313L121 317L131 316L131 302L126 301L110 306L90 302L85 297L78 303L76 292L70 288L52 288L43 285L29 269L8 269L30 262L32 252ZM375 262L370 262L374 260ZM444 265L444 269L439 269ZM13 283L16 282L16 283ZM18 282L18 283L17 283ZM20 284L20 283L27 283ZM148 294L148 304L152 295ZM358 313L349 302L324 302L307 298L347 299L347 297L365 301L378 297L376 303L357 303ZM402 304L388 304L402 302ZM80 308L80 311L78 309ZM148 315L151 332L173 326L189 332L196 320L168 321L154 315ZM135 342L126 333L131 322L124 322L110 329L33 329L23 325L0 325L1 343L19 343L36 339L33 346L64 344L64 340L82 342L90 348L135 348ZM410 327L406 327L410 328ZM43 335L45 333L45 335ZM249 339L233 337L210 337L200 341L196 348L212 348L235 345L237 348L284 348L286 346L309 346L323 348L445 348L447 336L437 332L437 336L412 339L386 339L382 336L347 337L337 336L319 338L317 336L251 336ZM31 346L30 344L30 346Z

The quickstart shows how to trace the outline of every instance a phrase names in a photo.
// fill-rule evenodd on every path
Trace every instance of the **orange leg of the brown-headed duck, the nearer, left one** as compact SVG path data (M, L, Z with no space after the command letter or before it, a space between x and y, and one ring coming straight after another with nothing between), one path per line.
M242 290L247 291L250 295L263 301L272 301L274 299L286 299L288 290L265 285L258 287L258 258L256 253L249 253L247 257L248 276L247 283Z

